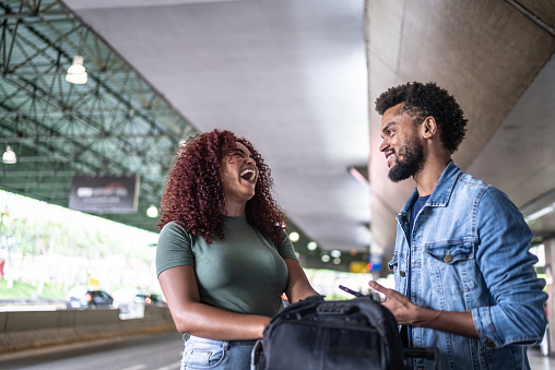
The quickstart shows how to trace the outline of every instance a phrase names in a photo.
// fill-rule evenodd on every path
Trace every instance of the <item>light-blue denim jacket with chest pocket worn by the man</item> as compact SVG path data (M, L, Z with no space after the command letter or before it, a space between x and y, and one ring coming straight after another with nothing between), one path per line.
M506 194L462 172L452 160L410 236L417 198L414 190L397 217L389 263L395 289L406 295L410 278L413 303L471 311L480 339L413 327L412 345L438 347L441 369L529 369L524 344L543 335L547 295L533 267L532 234L521 213ZM432 369L429 362L417 359L414 367Z

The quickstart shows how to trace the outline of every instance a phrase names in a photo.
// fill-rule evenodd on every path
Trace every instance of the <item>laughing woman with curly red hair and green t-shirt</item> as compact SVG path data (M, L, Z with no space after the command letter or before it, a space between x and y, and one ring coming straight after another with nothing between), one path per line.
M190 139L162 198L156 272L186 333L181 369L249 369L250 353L282 307L317 295L271 195L270 169L229 131Z

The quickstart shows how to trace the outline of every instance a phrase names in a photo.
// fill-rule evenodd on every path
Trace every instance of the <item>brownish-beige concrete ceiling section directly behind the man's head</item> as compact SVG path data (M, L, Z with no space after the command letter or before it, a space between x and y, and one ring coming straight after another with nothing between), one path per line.
M505 191L524 215L553 204L555 3L529 11L526 1L367 3L370 102L390 85L435 81L469 119L456 164ZM394 216L414 182L386 180L379 122L371 112L373 248L389 256ZM538 236L554 235L547 218L530 222Z

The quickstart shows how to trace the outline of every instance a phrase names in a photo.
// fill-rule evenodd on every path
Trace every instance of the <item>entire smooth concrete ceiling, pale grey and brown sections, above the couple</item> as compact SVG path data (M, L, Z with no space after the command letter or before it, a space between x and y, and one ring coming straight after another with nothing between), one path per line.
M63 3L198 131L249 139L287 216L324 251L392 253L414 183L387 179L374 102L409 81L435 81L464 109L459 166L524 215L555 202L553 1ZM554 218L530 225L550 237Z

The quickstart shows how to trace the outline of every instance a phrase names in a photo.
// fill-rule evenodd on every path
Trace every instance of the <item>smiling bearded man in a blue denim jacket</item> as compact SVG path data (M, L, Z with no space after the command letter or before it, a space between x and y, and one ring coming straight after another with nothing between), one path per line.
M416 189L401 210L386 296L409 346L438 347L442 369L529 369L526 344L545 330L532 234L499 190L451 160L467 119L434 83L392 87L376 100L388 177ZM414 368L430 368L414 359Z

